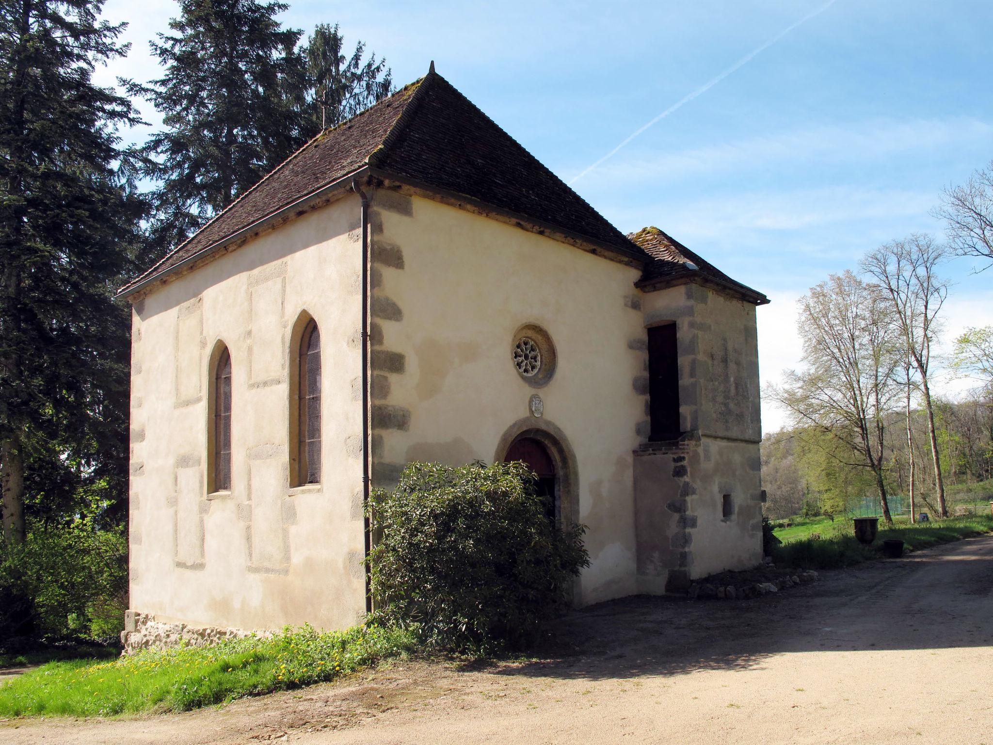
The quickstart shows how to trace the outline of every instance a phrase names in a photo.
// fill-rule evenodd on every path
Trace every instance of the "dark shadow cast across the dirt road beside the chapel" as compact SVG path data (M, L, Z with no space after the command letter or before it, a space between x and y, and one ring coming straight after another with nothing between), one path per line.
M570 613L523 663L478 671L576 679L761 668L773 655L993 645L993 536L821 572L775 596L638 596Z

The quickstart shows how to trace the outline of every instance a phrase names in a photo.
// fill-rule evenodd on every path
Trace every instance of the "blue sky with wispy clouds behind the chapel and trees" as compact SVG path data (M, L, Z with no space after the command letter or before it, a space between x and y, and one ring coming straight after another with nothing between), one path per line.
M130 22L134 45L101 72L107 81L158 74L147 43L177 5L137 7L105 6L110 20ZM296 0L283 19L340 24L350 45L386 57L398 84L434 60L571 181L811 13L573 184L621 229L658 225L765 291L760 364L776 381L799 365L796 298L881 242L939 234L929 210L942 187L993 159L993 3ZM955 282L946 337L993 324L993 269L972 270L964 258L944 267ZM967 385L943 376L937 387L954 395ZM767 431L783 423L773 406L763 419Z

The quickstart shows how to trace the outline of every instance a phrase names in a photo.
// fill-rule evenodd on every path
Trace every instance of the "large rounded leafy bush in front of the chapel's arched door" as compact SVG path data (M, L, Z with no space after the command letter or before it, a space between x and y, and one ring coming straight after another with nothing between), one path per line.
M551 524L534 483L521 463L412 463L396 489L375 490L375 616L463 652L533 642L590 563L585 526Z

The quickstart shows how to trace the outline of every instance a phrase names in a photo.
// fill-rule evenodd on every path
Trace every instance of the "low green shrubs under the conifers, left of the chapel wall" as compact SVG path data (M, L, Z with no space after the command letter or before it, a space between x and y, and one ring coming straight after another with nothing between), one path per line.
M23 544L0 544L0 647L17 637L116 642L126 591L122 528L34 525Z

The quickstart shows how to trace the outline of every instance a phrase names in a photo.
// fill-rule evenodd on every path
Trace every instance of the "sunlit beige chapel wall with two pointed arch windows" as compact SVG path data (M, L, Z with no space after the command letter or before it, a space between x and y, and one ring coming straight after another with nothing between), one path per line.
M241 629L343 627L364 610L358 220L347 197L136 302L131 608ZM290 489L290 337L303 311L321 331L323 474ZM213 499L218 343L232 361L232 484Z

